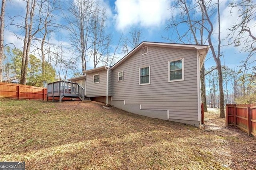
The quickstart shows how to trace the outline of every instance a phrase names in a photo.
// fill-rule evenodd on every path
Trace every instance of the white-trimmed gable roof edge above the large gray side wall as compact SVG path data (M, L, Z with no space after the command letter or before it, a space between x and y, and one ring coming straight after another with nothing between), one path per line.
M157 47L172 47L172 48L180 48L180 49L196 49L199 51L199 57L200 57L200 68L202 67L202 64L204 63L204 59L206 57L206 54L208 52L208 49L210 48L209 45L196 45L196 44L180 44L180 43L159 43L159 42L142 42L137 47L135 47L130 53L125 55L122 59L120 59L117 63L111 66L111 69L115 69L118 65L123 63L126 59L128 59L130 56L132 56L134 53L136 53L141 47L143 46L157 46Z

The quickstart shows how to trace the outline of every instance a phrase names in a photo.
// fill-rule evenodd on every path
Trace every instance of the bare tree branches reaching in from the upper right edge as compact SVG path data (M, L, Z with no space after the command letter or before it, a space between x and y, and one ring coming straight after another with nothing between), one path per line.
M228 29L228 38L231 44L236 47L241 45L243 51L249 52L239 71L251 70L254 73L251 77L253 79L256 77L256 59L253 57L256 55L256 3L254 0L242 0L232 2L229 6L232 8L230 12L238 10L240 15L237 22Z

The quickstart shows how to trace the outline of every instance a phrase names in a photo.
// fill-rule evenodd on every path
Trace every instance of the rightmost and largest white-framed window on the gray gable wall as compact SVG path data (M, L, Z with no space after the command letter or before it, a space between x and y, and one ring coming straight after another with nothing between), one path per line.
M168 61L168 81L184 80L184 58Z

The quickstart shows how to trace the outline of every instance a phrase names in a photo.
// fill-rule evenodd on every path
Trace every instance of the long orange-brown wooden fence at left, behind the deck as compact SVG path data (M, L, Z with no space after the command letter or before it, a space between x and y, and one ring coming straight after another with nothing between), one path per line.
M46 100L47 89L13 83L0 83L0 98Z

